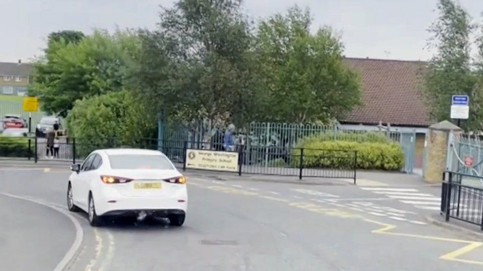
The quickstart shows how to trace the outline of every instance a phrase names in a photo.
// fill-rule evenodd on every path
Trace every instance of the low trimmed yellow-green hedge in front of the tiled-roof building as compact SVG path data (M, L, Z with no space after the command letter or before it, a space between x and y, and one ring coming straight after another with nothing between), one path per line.
M352 168L354 152L344 151L357 151L357 169L400 170L403 166L404 155L397 143L306 140L298 147L304 148L304 168ZM292 155L300 155L300 150L294 149ZM292 161L294 166L298 163Z

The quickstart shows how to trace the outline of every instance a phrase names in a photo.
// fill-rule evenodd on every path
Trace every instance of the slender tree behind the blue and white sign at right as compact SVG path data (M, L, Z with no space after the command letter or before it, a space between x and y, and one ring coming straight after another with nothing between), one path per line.
M430 108L430 115L435 121L450 118L451 95L467 94L470 96L470 119L466 128L477 128L479 114L473 105L476 78L471 70L470 40L473 30L466 10L452 0L439 0L439 16L429 31L432 38L429 45L437 53L430 60L425 72L423 97ZM475 114L477 113L477 114Z

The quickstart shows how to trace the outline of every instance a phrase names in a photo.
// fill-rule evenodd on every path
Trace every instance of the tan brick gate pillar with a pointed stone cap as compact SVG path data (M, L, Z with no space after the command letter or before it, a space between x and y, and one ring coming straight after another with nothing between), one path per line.
M462 129L453 123L444 120L429 127L426 134L426 161L424 163L424 180L428 183L442 181L443 172L446 169L448 153L448 138L452 133L458 138Z

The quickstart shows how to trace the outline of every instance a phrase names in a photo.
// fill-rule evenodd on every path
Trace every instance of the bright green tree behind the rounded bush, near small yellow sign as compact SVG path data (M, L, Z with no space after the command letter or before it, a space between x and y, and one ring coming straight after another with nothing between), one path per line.
M42 110L67 116L76 100L120 91L128 82L130 65L139 52L136 34L96 30L52 33L45 55L34 63L29 94L40 97Z

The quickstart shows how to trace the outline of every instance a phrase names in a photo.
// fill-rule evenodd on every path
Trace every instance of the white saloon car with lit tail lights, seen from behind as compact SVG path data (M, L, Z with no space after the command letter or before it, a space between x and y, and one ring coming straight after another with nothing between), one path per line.
M67 206L89 214L92 226L102 217L167 217L181 226L188 207L186 178L159 151L107 149L71 166Z

